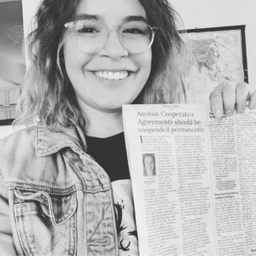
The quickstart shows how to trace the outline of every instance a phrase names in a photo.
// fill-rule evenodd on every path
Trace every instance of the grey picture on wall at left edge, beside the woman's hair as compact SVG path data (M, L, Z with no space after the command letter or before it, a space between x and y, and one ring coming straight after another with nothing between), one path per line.
M20 83L26 70L22 42L21 0L3 0L0 2L0 125L10 125L17 117Z

